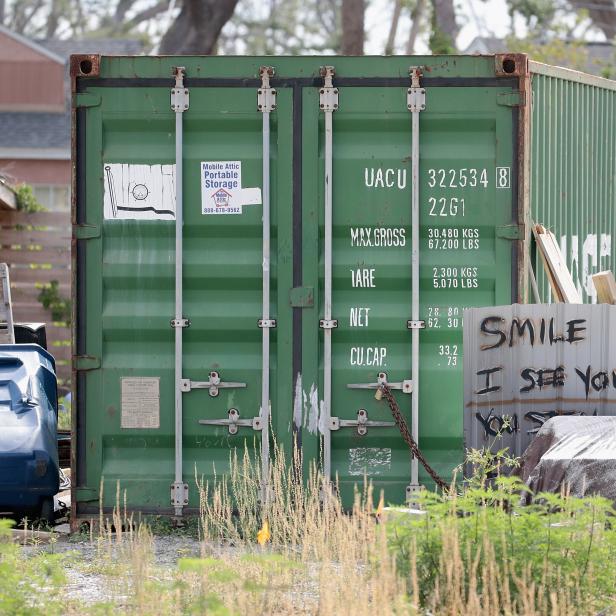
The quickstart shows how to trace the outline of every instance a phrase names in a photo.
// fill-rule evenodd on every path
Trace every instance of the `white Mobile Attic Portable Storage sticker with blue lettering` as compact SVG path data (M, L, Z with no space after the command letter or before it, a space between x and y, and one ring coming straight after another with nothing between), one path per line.
M242 188L242 162L221 160L201 163L201 212L241 214L243 205L261 203L260 188Z

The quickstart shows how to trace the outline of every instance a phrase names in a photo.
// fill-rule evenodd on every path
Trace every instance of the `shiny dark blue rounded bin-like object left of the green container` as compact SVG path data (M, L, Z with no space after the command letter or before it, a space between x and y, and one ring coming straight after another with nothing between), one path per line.
M57 425L54 358L37 344L0 345L0 512L53 521Z

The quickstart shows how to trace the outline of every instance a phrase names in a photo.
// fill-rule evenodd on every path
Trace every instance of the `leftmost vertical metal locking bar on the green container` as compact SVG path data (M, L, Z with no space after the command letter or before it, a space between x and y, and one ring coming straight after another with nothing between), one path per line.
M175 88L172 90L172 107L175 111L175 321L182 322L183 317L183 289L182 289L182 258L183 258L183 113L187 109L187 102L184 104L184 96L179 95L184 92L184 73L183 67L175 68ZM182 417L182 334L184 327L174 327L175 330L175 480L172 486L173 508L176 516L182 515L184 501L188 501L185 494L182 468L182 437L183 437L183 417Z

